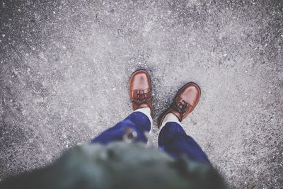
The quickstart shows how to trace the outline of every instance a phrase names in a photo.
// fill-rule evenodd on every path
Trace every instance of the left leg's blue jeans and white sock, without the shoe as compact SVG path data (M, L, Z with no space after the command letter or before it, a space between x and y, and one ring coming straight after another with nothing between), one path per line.
M134 142L146 142L145 132L149 132L152 127L150 108L139 108L131 113L125 120L118 122L105 132L102 132L91 140L91 143L108 144L109 142L122 141L126 134L133 134ZM127 133L129 132L132 133ZM125 138L124 138L125 139Z

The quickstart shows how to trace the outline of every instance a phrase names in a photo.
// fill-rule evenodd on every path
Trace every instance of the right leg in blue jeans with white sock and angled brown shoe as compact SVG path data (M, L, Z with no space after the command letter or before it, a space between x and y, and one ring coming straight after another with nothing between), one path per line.
M210 164L207 155L192 137L183 130L181 121L189 115L200 100L200 87L187 83L180 88L170 107L158 118L158 146L173 157L186 155L195 161Z

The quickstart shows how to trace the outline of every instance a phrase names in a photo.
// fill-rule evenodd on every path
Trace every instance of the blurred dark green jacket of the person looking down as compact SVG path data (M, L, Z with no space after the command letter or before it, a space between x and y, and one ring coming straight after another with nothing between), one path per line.
M0 188L226 188L214 168L185 156L172 159L144 144L74 147L54 164L6 178Z

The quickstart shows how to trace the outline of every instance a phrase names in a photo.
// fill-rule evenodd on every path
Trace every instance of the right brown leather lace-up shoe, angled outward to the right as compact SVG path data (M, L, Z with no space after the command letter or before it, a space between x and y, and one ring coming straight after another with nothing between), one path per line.
M180 88L170 107L158 118L158 128L161 127L163 119L168 113L173 113L181 122L194 110L200 100L200 87L195 83L187 83Z

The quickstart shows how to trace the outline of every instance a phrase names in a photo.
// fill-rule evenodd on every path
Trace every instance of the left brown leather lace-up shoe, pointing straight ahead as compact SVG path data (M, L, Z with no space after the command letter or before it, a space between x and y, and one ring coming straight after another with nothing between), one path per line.
M149 107L152 115L151 79L144 70L134 71L129 79L129 98L133 110Z

